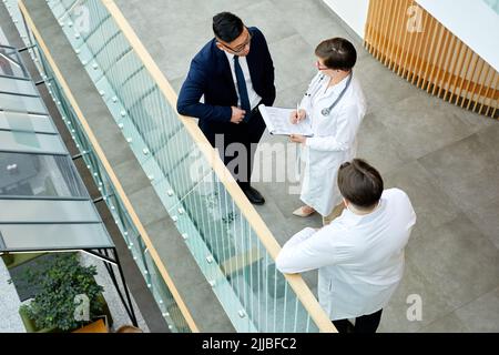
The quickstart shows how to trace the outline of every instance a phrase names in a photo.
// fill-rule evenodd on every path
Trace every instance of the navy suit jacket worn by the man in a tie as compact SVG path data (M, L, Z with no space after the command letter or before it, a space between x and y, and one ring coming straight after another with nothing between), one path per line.
M267 42L257 28L248 30L252 42L246 60L253 89L262 97L262 103L272 105L275 100L274 64ZM204 103L201 103L203 94ZM180 114L198 118L201 130L213 144L215 133L230 133L236 125L231 123L231 106L237 106L237 92L231 67L225 52L216 47L216 40L213 39L192 60L176 109ZM249 120L249 130L252 124L257 122Z

